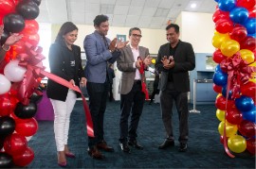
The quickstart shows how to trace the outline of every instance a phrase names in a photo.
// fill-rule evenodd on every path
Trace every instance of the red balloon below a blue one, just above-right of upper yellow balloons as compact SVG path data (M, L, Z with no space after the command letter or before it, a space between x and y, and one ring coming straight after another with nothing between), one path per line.
M247 28L244 25L235 25L229 36L232 40L242 42L247 37Z

